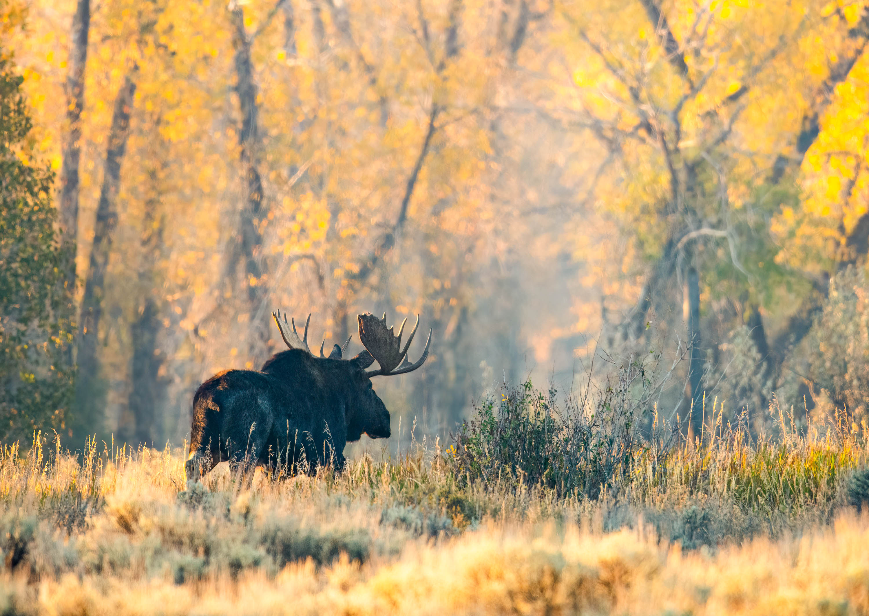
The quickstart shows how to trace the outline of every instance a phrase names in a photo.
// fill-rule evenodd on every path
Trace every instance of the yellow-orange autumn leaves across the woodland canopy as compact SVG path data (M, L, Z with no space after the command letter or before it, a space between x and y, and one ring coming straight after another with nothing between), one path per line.
M447 0L291 4L289 32L275 3L232 3L252 37L260 142L246 154L264 182L255 224L265 273L236 278L268 289L269 300L291 311L343 318L389 279L389 305L428 305L438 315L447 306L445 329L481 292L468 275L475 265L569 255L581 263L584 291L570 320L554 329L596 332L601 305L619 313L634 305L649 262L674 229L763 226L780 245L770 259L811 271L836 257L843 233L869 207L866 54L846 80L825 89L861 49L853 32L866 16L862 0L663 3L678 54L667 49L663 22L651 23L636 1L496 7L468 0L453 55ZM26 30L3 26L33 108L35 154L53 168L68 128L75 5L33 0ZM521 7L533 17L511 50ZM79 270L90 249L113 102L135 70L118 233L140 237L148 208L159 204L166 249L156 269L167 294L183 295L185 324L229 322L242 310L237 289L224 288L238 273L227 271L225 256L236 246L247 196L229 17L228 3L215 0L108 0L91 21ZM802 122L815 108L819 134L798 153ZM802 154L800 206L765 202L760 193L779 158ZM703 169L705 183L673 194L671 167L688 163ZM377 254L390 234L398 249ZM138 309L137 283L123 265L141 255L135 241L115 246L109 300L129 315ZM381 257L382 279L360 279ZM207 348L190 338L192 351L182 352L219 364L228 351L219 338ZM128 357L119 352L112 362L123 373Z

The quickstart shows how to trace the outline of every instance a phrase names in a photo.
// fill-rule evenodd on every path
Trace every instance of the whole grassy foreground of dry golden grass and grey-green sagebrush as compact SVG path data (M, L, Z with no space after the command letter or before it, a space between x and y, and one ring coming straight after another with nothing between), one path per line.
M168 449L39 441L0 455L0 613L869 613L866 446L828 435L638 458L594 501L436 447L184 490Z

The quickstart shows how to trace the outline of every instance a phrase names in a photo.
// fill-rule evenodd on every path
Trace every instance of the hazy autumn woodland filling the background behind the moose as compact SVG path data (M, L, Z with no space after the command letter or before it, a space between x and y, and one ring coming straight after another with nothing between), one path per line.
M824 332L867 311L863 2L4 6L43 245L76 249L44 279L74 292L70 442L181 442L203 378L282 348L277 307L327 346L421 314L427 369L377 383L396 435L595 351L684 356L687 429L704 396L756 430L774 398L862 412L869 343L830 363Z

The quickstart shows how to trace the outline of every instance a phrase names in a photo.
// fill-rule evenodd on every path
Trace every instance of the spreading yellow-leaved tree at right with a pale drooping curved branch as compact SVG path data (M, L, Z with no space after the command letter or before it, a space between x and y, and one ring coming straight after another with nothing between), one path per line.
M653 314L673 312L677 280L687 287L691 357L681 415L695 432L705 389L700 288L737 298L762 349L759 306L788 301L783 287L799 296L800 283L802 292L808 286L775 260L769 227L786 201L775 187L793 186L786 169L799 166L818 134L823 93L846 78L866 44L859 10L825 11L826 3L656 0L559 11L576 60L565 63L569 82L558 92L560 102L568 92L571 100L541 113L596 141L590 199L632 246L631 262L620 265L646 271L623 336L638 338ZM804 71L807 62L812 70Z

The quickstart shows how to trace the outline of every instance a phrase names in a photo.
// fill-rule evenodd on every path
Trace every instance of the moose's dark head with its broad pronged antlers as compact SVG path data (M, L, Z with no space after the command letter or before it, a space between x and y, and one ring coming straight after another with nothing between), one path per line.
M347 440L357 441L362 434L367 434L371 438L388 438L391 433L389 411L375 393L371 378L407 374L425 363L428 358L428 346L431 344L431 331L428 331L428 340L421 357L413 363L408 359L408 349L420 326L419 316L402 348L401 337L404 326L408 322L407 318L401 322L396 335L393 327L387 328L386 313L383 314L383 318L377 318L369 312L358 315L359 339L366 350L350 359L343 357L352 336L348 337L347 342L342 346L335 344L328 357L323 354L325 346L323 341L320 345L320 357L315 357L308 347L308 324L311 320L309 314L301 337L295 328L295 319L291 318L288 321L286 312L281 316L280 311L274 311L272 316L275 318L278 330L281 331L284 343L290 349L304 351L307 354L312 370L322 373L325 377L322 382L334 383L335 387L344 388L350 393L349 396L342 396L345 403ZM379 368L368 370L375 361Z

